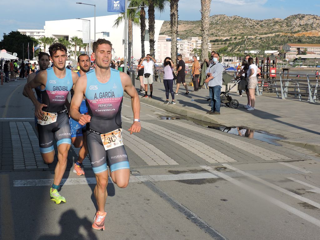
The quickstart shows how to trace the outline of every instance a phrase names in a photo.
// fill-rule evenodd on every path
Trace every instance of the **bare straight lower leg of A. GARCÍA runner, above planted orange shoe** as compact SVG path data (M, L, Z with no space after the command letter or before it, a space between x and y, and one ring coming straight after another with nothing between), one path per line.
M106 212L105 205L107 201L107 186L108 186L108 171L96 173L97 185L93 190L94 196L97 200L98 211Z

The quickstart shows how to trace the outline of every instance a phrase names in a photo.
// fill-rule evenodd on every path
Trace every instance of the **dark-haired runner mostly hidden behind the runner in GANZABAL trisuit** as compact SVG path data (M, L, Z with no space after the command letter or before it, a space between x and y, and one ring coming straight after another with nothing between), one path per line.
M43 70L46 70L48 67L49 67L49 64L50 64L50 55L46 52L40 52L39 55L38 55L38 64L39 64L39 70L37 70L36 72L34 73L31 73L29 76L28 76L28 79L27 79L27 83L30 82L31 80L33 80L36 75L40 72L40 71L43 71ZM41 102L41 91L44 91L44 86L42 87L43 89L41 89L41 86L38 86L35 88L35 92L36 92L36 96L37 96L37 100ZM23 89L23 92L22 92L23 96L25 97L28 97L28 94L26 92L25 89ZM36 125L36 130L38 131L38 126L37 126L38 122L37 122L37 117L35 116L35 125Z

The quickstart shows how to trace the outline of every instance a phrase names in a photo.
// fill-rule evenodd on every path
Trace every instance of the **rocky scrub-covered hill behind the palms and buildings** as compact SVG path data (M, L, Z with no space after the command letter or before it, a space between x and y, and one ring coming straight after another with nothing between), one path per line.
M320 16L317 15L296 14L285 19L267 20L213 15L210 17L209 39L216 45L215 49L220 45L228 46L229 51L248 47L255 48L250 50L278 49L287 42L320 43L319 26ZM164 21L160 34L170 36L170 21ZM182 39L200 37L200 20L179 21L178 36Z

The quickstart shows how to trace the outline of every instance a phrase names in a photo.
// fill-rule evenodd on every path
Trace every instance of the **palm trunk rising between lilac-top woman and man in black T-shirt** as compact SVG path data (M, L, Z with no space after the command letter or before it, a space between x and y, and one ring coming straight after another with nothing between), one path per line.
M177 33L178 33L178 2L170 1L170 27L171 27L171 59L173 64L177 65Z

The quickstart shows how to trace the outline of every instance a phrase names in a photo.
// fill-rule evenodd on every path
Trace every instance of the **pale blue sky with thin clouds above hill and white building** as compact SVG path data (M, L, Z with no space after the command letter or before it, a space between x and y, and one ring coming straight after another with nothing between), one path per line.
M0 40L3 33L22 29L43 29L46 20L61 20L93 16L93 7L76 4L76 0L54 1L3 1L0 14ZM107 0L84 0L84 3L96 4L96 15L104 16L107 12ZM197 4L196 4L197 3ZM200 20L200 0L180 0L180 20ZM3 11L4 10L4 11ZM262 20L270 18L286 18L293 14L320 13L319 0L212 0L210 15L238 15ZM156 13L157 20L170 20L170 6L167 4L163 13Z

